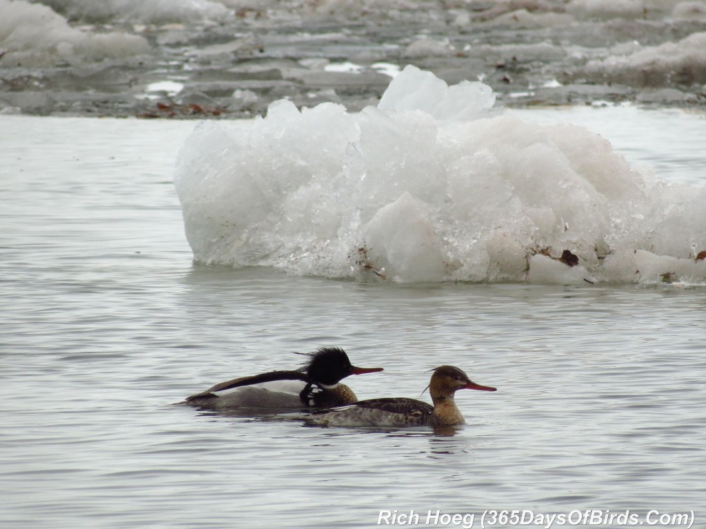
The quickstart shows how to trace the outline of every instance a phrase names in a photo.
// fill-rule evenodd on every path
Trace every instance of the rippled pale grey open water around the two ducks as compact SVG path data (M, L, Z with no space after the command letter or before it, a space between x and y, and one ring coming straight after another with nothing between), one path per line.
M626 116L664 117L595 112L616 148L637 143ZM675 114L674 137L702 145L700 119ZM419 526L430 509L693 509L706 526L703 287L194 265L171 182L192 128L0 117L1 527L371 528L395 509ZM702 185L702 151L671 145L626 155ZM385 367L350 381L363 398L419 398L441 363L498 391L460 393L468 424L450 432L172 405L321 345Z

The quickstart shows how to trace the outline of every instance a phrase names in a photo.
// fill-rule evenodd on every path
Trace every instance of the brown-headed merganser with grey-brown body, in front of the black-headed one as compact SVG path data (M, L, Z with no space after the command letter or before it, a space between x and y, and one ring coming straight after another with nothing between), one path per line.
M497 391L496 388L472 382L457 367L434 369L429 381L429 394L434 405L414 398L372 398L342 408L311 412L306 424L320 426L456 426L464 424L463 415L453 400L459 389Z

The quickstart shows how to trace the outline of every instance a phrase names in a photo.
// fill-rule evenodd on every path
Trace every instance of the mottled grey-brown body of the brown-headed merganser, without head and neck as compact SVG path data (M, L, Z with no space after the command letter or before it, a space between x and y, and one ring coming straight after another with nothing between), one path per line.
M433 409L431 404L414 398L371 398L312 412L307 422L323 426L424 426L431 424Z

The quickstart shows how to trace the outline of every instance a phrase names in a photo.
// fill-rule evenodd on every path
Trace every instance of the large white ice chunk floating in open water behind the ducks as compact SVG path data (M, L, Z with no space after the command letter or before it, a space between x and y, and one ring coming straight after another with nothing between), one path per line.
M396 282L706 281L705 188L494 100L407 66L359 114L280 100L249 126L201 124L175 172L196 260Z

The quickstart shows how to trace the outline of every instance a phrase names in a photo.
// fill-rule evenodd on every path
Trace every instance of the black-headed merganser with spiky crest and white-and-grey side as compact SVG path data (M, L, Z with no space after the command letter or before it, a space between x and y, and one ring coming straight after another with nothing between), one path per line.
M302 354L302 353L299 353ZM353 390L341 379L382 371L382 367L355 367L339 347L322 347L308 354L304 367L241 376L216 384L181 404L222 410L226 408L327 408L356 402Z

